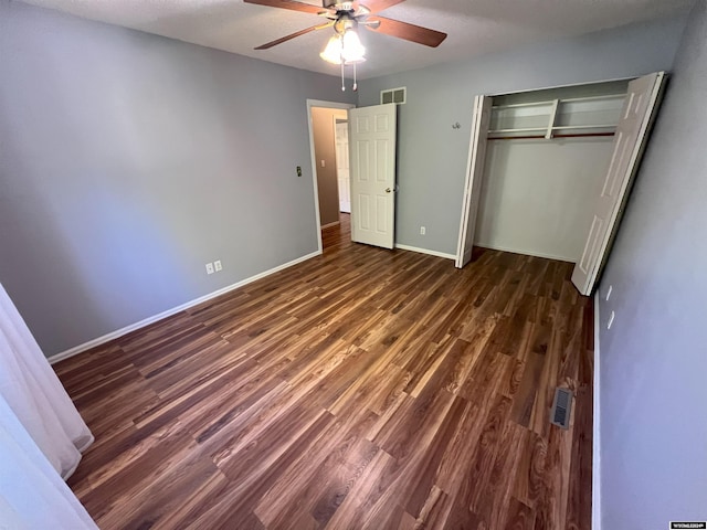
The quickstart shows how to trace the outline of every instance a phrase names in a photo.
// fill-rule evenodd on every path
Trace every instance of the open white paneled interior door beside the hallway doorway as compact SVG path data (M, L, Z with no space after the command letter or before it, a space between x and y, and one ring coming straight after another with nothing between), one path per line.
M351 240L393 247L395 219L395 104L351 108Z

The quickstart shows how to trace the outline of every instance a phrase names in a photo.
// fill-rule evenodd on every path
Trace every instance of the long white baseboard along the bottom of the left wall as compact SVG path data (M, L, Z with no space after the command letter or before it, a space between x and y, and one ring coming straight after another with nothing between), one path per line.
M144 320L140 320L139 322L131 324L129 326L126 326L125 328L117 329L102 337L89 340L88 342L84 342L83 344L78 344L73 348L70 348L68 350L62 351L60 353L56 353L50 357L48 360L51 364L54 364L55 362L63 361L64 359L68 359L70 357L77 356L78 353L82 353L86 350L95 348L96 346L105 344L106 342L117 339L119 337L123 337L124 335L127 335L131 331L144 328L145 326L149 326L150 324L157 322L158 320L161 320L163 318L171 317L172 315L177 315L178 312L183 311L184 309L189 309L190 307L211 300L217 296L224 295L225 293L229 293L233 289L238 289L239 287L243 287L244 285L252 284L257 279L264 278L265 276L270 276L271 274L275 274L279 271L283 271L284 268L292 267L293 265L297 265L298 263L306 262L307 259L312 259L313 257L316 257L320 254L321 254L321 251L316 251L316 252L313 252L312 254L307 254L305 256L298 257L296 259L293 259L292 262L287 262L283 265L278 265L274 268L256 274L255 276L251 276L250 278L242 279L241 282L236 282L235 284L229 285L219 290L214 290L213 293L209 293L208 295L190 300L186 304L182 304L181 306L172 307L171 309L167 309L166 311L162 311L158 315L148 317Z

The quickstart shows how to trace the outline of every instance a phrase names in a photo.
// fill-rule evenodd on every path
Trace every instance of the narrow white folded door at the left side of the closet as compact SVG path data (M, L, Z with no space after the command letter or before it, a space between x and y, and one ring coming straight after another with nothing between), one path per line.
M464 202L462 204L462 221L460 223L460 240L456 247L455 265L462 268L472 261L474 246L474 230L476 214L484 178L484 162L486 160L486 137L490 123L492 98L476 96L474 98L474 116L472 118L472 140L468 149L466 167L466 183L464 184Z

